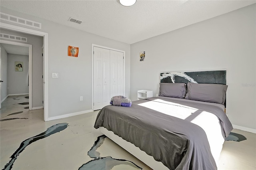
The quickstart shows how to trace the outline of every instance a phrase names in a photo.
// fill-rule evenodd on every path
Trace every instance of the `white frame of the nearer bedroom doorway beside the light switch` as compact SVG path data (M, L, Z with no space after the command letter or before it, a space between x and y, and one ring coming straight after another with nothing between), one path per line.
M24 28L20 26L15 26L11 24L6 24L1 22L0 28L6 29L6 30L12 30L16 32L22 32L25 34L32 34L35 36L41 36L44 38L44 89L43 89L43 96L44 96L44 121L48 121L48 33L41 32L37 30L32 30L29 28ZM32 68L32 67L31 67ZM30 97L32 98L32 97ZM31 99L32 100L32 99Z

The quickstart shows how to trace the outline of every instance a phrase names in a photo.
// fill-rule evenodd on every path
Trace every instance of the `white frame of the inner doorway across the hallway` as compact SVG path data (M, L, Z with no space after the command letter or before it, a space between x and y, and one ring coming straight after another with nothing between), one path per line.
M8 40L0 40L0 43L28 47L28 108L29 110L32 110L32 44L11 42Z

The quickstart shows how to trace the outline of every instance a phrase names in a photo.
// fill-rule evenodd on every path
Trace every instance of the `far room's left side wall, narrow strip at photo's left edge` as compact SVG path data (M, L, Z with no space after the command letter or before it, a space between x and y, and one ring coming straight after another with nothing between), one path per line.
M8 96L7 89L7 52L2 45L1 46L1 80L4 81L1 83L1 98L0 102L2 102Z

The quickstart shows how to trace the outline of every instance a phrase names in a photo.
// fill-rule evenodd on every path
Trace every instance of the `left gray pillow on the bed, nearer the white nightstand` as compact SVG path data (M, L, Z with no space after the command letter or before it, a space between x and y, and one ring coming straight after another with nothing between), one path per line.
M159 96L184 98L186 96L185 83L160 83Z

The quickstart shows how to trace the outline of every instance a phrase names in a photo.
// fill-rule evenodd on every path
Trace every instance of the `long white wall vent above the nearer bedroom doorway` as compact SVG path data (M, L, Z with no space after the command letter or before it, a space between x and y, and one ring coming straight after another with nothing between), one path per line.
M20 18L20 17L17 17L17 16L5 14L3 12L1 12L1 18L0 19L4 20L4 21L13 22L13 23L16 23L16 24L21 24L21 25L24 25L24 26L29 26L29 27L41 29L41 23L40 22L27 20L27 19Z

